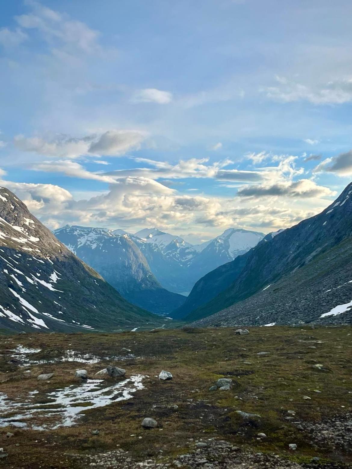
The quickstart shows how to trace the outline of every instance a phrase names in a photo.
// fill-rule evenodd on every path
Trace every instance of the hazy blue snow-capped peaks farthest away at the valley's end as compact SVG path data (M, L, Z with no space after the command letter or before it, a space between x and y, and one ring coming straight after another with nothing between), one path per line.
M146 228L135 236L145 241L138 246L161 285L188 294L200 277L251 249L264 234L230 228L213 240L194 246L157 228Z

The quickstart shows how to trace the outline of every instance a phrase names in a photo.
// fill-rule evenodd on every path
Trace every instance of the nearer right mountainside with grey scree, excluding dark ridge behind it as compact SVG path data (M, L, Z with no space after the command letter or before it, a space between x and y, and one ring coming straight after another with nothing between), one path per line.
M268 312L268 309L271 318L268 322L277 322L280 318L291 323L298 317L299 320L302 317L320 319L322 314L338 306L343 297L349 303L350 293L342 293L349 292L348 282L351 280L350 257L346 254L352 235L351 194L352 183L320 214L281 231L272 239L263 240L244 256L237 257L228 266L231 272L239 271L230 286L225 282L217 296L191 311L185 319L197 320L230 307L223 315L234 323L237 318L244 317L249 323L256 323L262 312ZM333 262L332 256L339 259L338 263ZM240 264L243 264L242 268ZM310 272L312 277L306 272ZM216 271L211 273L214 275ZM300 279L305 276L306 283L302 284ZM322 292L320 287L327 285L329 291ZM338 294L334 290L337 287L342 288ZM251 299L253 295L256 296ZM269 297L272 299L270 305ZM257 305L255 308L254 304ZM306 305L304 314L298 308L300 304ZM245 305L248 309L244 313ZM284 316L282 311L285 311ZM215 324L218 318L216 315L202 323Z

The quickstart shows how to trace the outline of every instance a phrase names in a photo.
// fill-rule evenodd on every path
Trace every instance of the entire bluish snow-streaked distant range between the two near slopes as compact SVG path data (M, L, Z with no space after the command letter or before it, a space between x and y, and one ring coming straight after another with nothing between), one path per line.
M262 233L228 229L222 235L192 246L180 236L157 228L135 234L121 229L66 225L55 236L85 263L137 306L169 315L196 280L255 246Z

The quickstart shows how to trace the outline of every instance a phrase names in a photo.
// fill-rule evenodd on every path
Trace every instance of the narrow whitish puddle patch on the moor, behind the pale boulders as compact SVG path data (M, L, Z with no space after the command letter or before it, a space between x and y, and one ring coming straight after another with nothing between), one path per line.
M23 364L21 366L29 365L45 365L50 363L61 363L61 362L77 362L77 363L99 363L101 361L119 361L119 360L130 360L136 358L133 354L119 355L119 356L104 356L99 357L92 354L84 354L77 352L76 350L66 350L62 356L59 357L48 357L40 360L36 360L28 355L41 352L41 348L26 348L19 345L13 350L14 354L12 358L20 360Z

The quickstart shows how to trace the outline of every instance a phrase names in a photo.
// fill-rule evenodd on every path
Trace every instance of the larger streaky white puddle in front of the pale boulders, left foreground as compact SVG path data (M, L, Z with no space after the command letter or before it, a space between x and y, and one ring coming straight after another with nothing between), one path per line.
M88 379L81 385L72 385L47 393L50 400L46 404L31 402L38 391L28 394L28 401L11 401L0 393L0 427L13 425L33 430L54 430L77 424L80 412L92 408L105 407L113 402L132 399L133 393L143 389L144 375L134 375L112 386L106 386L103 379ZM15 412L18 414L14 415ZM7 414L10 414L7 416ZM36 419L47 423L36 424Z

